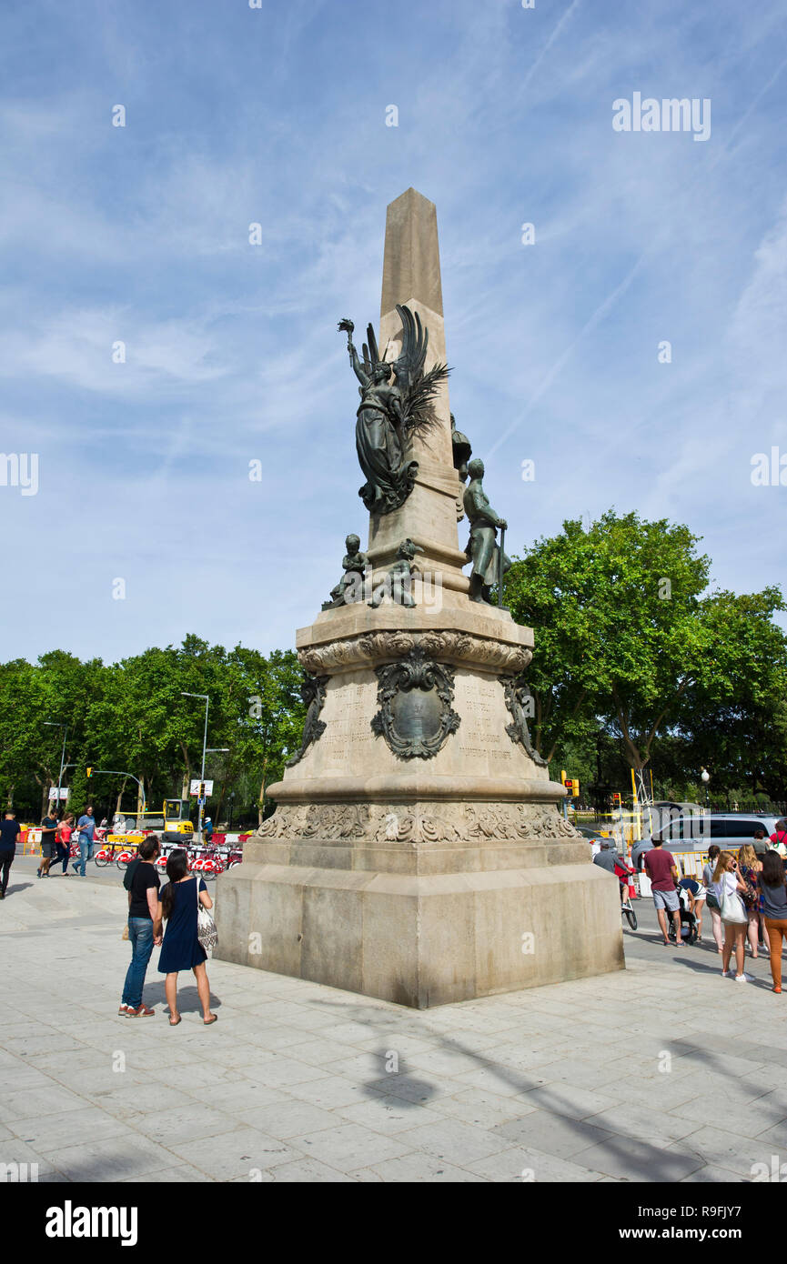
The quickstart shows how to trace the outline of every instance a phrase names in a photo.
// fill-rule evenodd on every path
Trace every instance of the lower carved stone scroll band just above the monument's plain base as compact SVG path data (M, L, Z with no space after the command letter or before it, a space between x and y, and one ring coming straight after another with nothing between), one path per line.
M313 804L282 805L258 838L364 843L563 842L582 836L545 804Z

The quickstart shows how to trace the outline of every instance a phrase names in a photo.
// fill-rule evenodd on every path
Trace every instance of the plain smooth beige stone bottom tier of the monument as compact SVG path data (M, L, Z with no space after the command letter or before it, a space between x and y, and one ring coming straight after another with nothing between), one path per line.
M254 842L216 882L214 956L414 1009L624 968L586 843Z

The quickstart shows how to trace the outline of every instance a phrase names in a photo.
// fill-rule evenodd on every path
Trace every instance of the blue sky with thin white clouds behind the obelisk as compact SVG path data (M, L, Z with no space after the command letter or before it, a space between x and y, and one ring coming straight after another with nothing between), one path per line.
M688 523L717 585L784 585L787 487L750 479L787 454L782 0L6 0L0 23L0 450L39 455L38 494L0 487L1 659L294 643L366 541L335 322L377 321L411 185L510 551L615 506ZM635 91L710 99L710 139L615 131Z

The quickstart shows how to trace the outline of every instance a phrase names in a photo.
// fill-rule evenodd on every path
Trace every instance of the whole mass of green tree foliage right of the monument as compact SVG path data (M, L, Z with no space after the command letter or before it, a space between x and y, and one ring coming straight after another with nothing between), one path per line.
M605 513L538 540L505 580L514 617L535 629L528 670L533 738L548 760L600 742L628 767L784 795L787 638L777 588L710 590L710 559L688 527ZM757 748L753 748L757 743Z

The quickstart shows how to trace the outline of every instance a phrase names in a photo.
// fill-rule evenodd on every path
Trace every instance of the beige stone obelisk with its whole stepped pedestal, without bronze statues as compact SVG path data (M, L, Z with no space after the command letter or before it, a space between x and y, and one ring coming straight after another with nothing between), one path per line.
M402 308L428 329L424 370L445 363L437 215L412 188L387 211L387 363ZM410 439L411 490L369 514L362 598L297 632L304 746L216 892L218 957L419 1009L624 964L616 884L530 747L533 632L468 599L445 382L433 420ZM410 595L369 602L404 541Z

